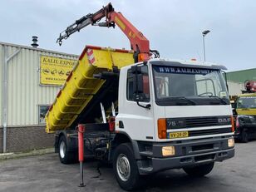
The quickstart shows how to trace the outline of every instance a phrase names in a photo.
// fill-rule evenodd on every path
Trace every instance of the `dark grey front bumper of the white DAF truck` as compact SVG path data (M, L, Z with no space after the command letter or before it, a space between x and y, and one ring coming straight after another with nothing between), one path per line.
M234 156L234 148L228 147L228 139L188 140L182 143L153 144L153 153L145 160L138 161L141 175L155 173L161 170L179 169L186 166L196 166L214 161L223 161ZM163 157L163 146L175 146L175 155Z

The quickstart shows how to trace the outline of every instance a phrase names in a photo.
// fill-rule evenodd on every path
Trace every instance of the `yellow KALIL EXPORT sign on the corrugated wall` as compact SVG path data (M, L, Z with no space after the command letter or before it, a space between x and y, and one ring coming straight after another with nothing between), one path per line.
M76 62L60 57L41 56L40 84L62 86Z

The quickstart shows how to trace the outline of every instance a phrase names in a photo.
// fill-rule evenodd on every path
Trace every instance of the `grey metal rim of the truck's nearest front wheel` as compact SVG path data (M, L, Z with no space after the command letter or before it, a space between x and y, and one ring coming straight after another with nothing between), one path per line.
M120 154L116 160L116 170L123 181L127 181L130 178L130 162L126 155Z

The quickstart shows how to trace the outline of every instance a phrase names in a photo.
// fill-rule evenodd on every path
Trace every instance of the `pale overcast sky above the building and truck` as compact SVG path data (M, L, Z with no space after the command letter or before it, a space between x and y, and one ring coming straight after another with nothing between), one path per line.
M32 36L39 47L80 54L85 45L129 49L130 43L116 27L86 27L62 47L59 33L76 19L101 9L111 0L1 0L0 42L29 46ZM163 58L206 60L229 71L256 67L256 1L254 0L112 0Z

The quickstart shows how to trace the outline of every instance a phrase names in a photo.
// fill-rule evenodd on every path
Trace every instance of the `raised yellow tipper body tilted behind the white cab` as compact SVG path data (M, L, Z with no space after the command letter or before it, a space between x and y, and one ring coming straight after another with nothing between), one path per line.
M46 115L46 132L54 133L71 126L105 80L94 78L101 71L121 69L134 63L133 52L119 49L86 46L79 61L67 77L61 91Z

